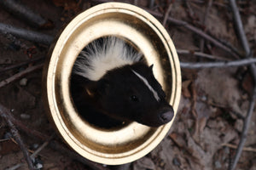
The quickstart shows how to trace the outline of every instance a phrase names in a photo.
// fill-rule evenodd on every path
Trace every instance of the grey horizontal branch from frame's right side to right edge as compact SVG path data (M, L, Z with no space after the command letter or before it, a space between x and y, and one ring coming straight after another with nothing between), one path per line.
M185 69L201 69L201 68L212 68L212 67L230 67L230 66L242 66L242 65L251 65L256 63L255 58L250 59L240 59L236 61L226 61L226 62L209 62L209 63L186 63L180 62L180 66Z

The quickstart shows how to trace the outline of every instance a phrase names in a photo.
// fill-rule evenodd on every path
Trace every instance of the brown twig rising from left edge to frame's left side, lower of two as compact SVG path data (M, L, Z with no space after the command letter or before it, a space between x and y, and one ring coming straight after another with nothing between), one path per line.
M19 73L15 74L14 76L3 80L2 82L0 82L0 88L3 88L4 86L8 85L10 82L14 82L14 81L20 79L21 77L26 76L28 73L31 73L32 71L37 71L38 69L43 68L43 65L44 64L30 66L26 70L20 71Z

